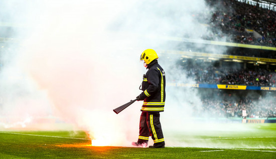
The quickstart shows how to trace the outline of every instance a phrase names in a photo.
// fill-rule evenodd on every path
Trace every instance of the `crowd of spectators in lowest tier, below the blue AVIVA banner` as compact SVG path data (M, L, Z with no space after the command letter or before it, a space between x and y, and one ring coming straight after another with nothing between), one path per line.
M219 95L218 95L219 96ZM211 100L210 100L211 99ZM213 99L212 97L203 97L201 114L213 117L242 117L242 110L246 110L246 116L250 118L276 117L276 97L257 99L246 96L244 99L227 98Z

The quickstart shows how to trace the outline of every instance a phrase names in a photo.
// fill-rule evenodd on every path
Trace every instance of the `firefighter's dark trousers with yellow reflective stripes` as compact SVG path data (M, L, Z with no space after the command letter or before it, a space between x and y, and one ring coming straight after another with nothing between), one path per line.
M143 111L140 116L140 131L138 142L148 143L149 136L152 136L155 147L161 147L165 145L159 112Z

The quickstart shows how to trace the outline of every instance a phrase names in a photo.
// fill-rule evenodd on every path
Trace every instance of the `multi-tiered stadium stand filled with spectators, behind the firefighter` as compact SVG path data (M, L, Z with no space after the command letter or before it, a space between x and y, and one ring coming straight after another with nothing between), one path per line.
M271 2L268 7L256 1L206 0L213 8L205 12L211 15L209 32L202 37L206 41L183 39L178 51L165 51L180 57L185 82L196 82L171 83L199 90L202 105L194 106L194 116L276 117L276 8Z

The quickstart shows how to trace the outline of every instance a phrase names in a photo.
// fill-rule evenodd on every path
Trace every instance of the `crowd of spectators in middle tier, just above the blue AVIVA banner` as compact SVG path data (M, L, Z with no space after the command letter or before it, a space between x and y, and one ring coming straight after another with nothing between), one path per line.
M276 86L276 72L264 69L187 68L186 74L197 83L247 86Z

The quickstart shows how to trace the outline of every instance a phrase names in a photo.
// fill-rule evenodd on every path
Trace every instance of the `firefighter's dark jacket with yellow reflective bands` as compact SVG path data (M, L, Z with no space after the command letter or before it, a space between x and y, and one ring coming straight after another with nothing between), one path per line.
M141 93L144 99L144 103L141 111L147 112L161 112L164 111L165 106L165 72L163 68L158 64L157 60L152 61L148 65L148 71L142 83Z

